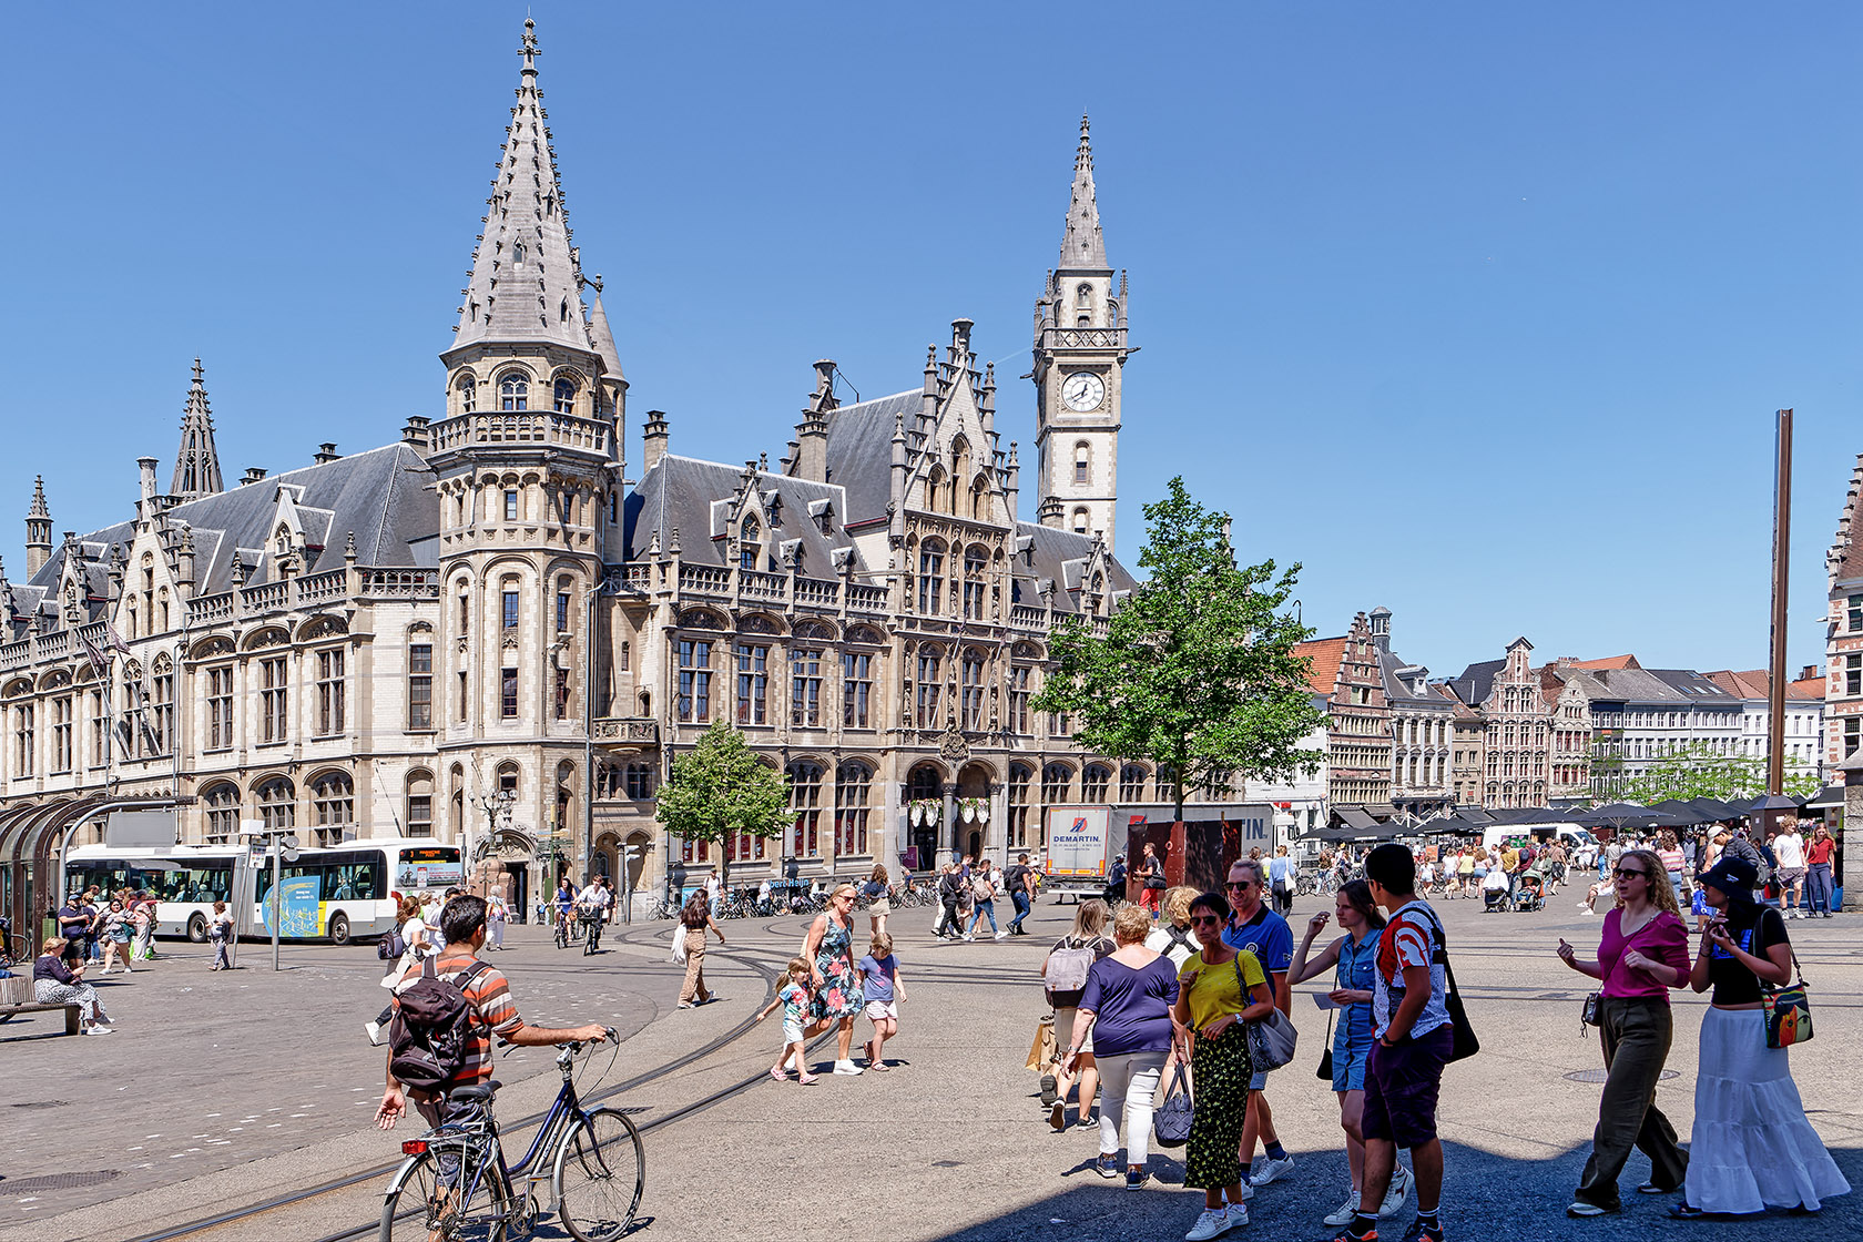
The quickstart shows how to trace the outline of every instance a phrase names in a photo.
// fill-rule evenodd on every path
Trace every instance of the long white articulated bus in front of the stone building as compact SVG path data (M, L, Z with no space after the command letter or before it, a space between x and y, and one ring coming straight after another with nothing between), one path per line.
M84 845L71 851L65 864L65 892L97 884L149 890L160 901L160 935L186 935L196 944L207 940L207 920L214 901L231 901L235 892L250 892L253 901L248 927L270 935L272 866L265 858L253 868L244 847L175 845L173 849L110 849ZM252 870L250 886L238 868ZM281 862L281 920L285 940L328 937L348 944L358 937L380 937L395 927L395 899L464 883L458 845L430 840L365 840L341 849L300 849L292 862Z

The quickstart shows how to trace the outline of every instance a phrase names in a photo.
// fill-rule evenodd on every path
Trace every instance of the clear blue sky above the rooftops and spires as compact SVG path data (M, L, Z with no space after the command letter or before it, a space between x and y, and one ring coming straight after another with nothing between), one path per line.
M1120 551L1183 473L1304 616L1433 672L1766 652L1798 410L1792 659L1857 417L1863 9L1736 4L535 4L630 438L782 452L836 358L917 387L954 317L1028 452L1030 309L1094 115L1131 270ZM0 540L166 486L196 354L222 464L442 406L522 4L50 6L15 20ZM637 441L635 441L637 443ZM1025 469L1025 518L1034 506Z

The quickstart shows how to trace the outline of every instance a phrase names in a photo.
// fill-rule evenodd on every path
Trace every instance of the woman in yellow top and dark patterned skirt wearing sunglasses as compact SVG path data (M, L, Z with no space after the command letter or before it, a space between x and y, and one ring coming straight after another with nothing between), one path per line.
M1230 903L1222 894L1205 892L1190 901L1190 929L1203 948L1177 972L1172 1009L1177 1056L1190 1063L1196 1084L1183 1184L1203 1192L1203 1214L1187 1242L1248 1223L1239 1151L1254 1067L1243 1022L1265 1019L1274 994L1256 955L1224 944L1228 922Z

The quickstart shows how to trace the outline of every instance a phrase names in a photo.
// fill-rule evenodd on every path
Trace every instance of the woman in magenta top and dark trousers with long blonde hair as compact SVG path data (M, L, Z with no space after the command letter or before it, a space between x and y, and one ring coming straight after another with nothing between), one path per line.
M1598 1037L1604 1043L1604 1097L1591 1158L1567 1216L1621 1212L1617 1175L1630 1149L1649 1156L1645 1194L1673 1192L1688 1175L1688 1153L1675 1145L1675 1127L1656 1108L1656 1080L1669 1058L1669 989L1688 983L1688 925L1675 905L1664 860L1649 849L1626 849L1611 873L1617 909L1604 916L1598 959L1582 961L1563 938L1559 959L1604 983Z

